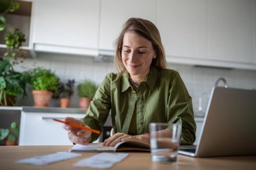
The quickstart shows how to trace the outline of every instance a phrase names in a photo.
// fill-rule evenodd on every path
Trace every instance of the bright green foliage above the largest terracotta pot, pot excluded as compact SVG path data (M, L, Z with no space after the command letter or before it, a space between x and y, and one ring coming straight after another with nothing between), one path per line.
M28 71L30 75L30 85L34 90L52 91L58 93L59 77L50 69L36 67Z

